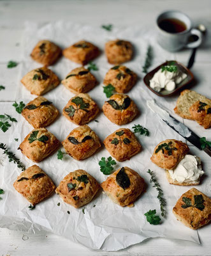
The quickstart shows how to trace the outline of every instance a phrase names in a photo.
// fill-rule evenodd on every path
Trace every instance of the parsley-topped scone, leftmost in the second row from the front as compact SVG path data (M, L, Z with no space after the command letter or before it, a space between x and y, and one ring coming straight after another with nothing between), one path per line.
M33 162L40 162L59 147L60 141L45 128L31 131L20 143L22 154Z

